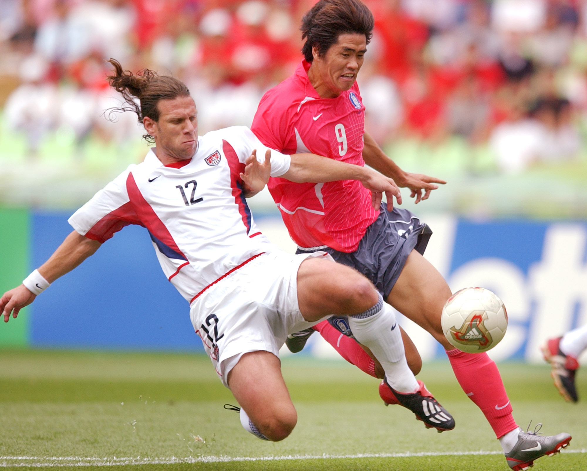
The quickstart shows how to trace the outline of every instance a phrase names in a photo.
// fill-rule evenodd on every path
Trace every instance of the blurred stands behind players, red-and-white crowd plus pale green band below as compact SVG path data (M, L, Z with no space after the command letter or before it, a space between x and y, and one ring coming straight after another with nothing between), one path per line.
M366 129L406 170L451 182L430 208L587 216L587 1L366 3ZM200 133L251 124L301 60L312 4L0 0L0 202L75 206L143 157L136 117L112 113L110 57L184 80Z

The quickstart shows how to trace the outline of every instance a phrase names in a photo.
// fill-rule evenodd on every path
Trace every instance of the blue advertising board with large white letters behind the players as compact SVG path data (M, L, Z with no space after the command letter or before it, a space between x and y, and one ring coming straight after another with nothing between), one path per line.
M33 212L31 269L71 232L68 216ZM510 323L504 340L491 351L496 360L541 361L539 346L546 338L587 323L586 222L474 222L453 216L427 222L434 235L426 256L453 292L484 286L504 300ZM278 216L257 223L269 239L294 250ZM188 310L158 267L147 231L129 226L31 305L29 344L202 350ZM444 358L429 334L400 321L424 360ZM312 336L306 351L331 355L318 337Z

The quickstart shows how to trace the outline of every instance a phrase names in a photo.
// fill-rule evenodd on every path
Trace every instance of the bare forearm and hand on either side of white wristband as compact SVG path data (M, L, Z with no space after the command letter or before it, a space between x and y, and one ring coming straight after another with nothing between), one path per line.
M70 233L53 255L49 257L38 271L49 283L73 270L77 265L92 255L102 245L96 240L79 235L76 231ZM23 284L4 293L0 298L0 311L4 315L4 322L10 316L16 318L18 311L28 306L36 298Z

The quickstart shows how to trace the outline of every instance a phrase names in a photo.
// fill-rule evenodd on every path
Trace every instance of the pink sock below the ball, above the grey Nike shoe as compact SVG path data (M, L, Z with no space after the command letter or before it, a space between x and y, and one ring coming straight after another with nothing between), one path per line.
M464 353L455 348L446 354L458 384L481 409L497 438L515 429L518 425L500 371L487 353Z

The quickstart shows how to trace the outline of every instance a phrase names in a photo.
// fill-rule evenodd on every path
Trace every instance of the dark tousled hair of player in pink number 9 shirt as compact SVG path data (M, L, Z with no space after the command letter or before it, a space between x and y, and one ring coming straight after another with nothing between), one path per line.
M302 54L312 62L312 48L318 48L324 57L330 46L336 44L344 33L365 35L367 44L373 36L373 13L360 0L320 0L302 18Z

